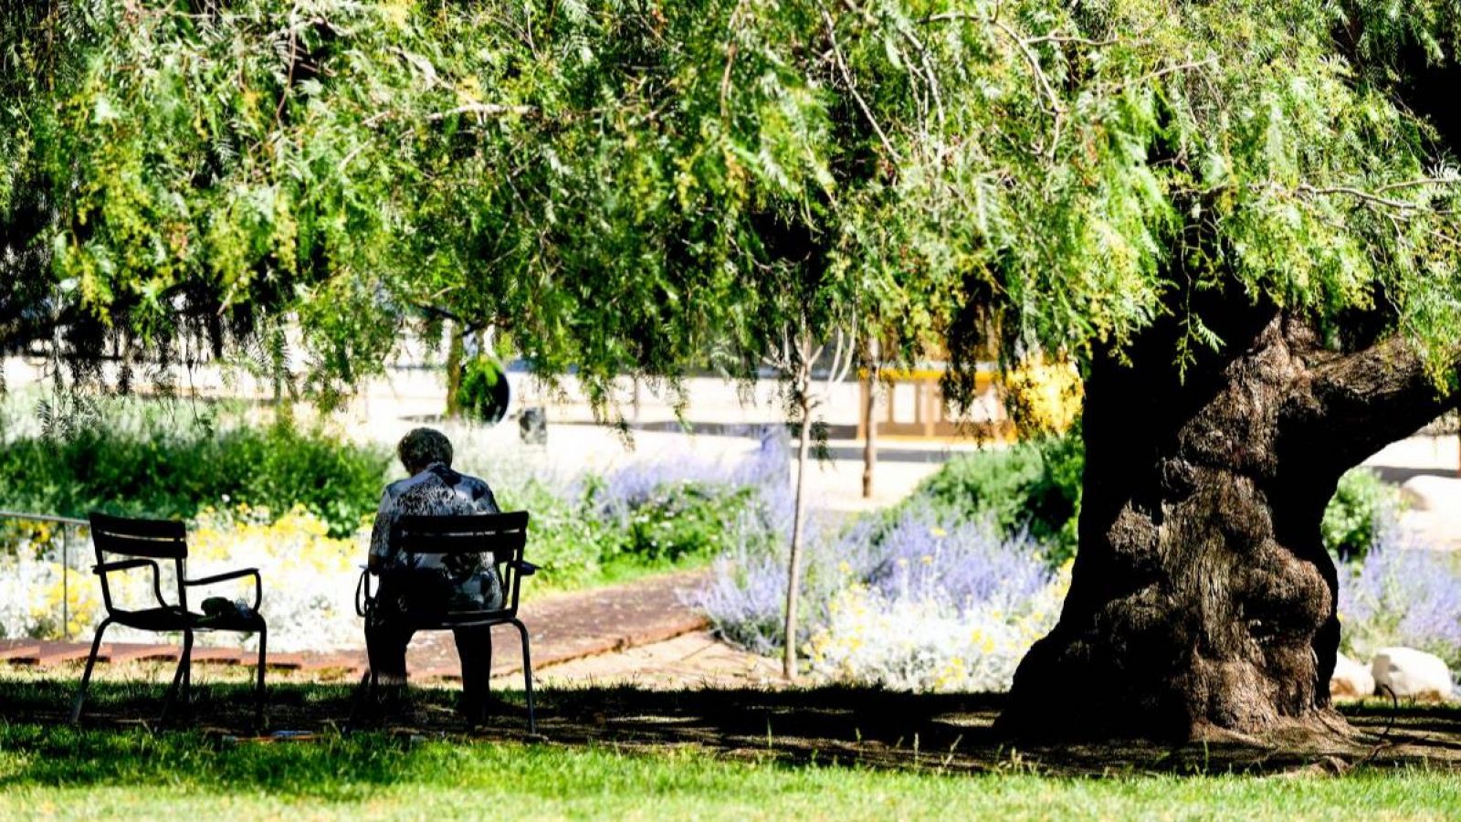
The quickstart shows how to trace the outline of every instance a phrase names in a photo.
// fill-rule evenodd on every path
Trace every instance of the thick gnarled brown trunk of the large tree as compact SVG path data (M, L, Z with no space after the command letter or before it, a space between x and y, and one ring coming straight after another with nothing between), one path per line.
M1330 709L1340 475L1454 405L1400 339L1325 351L1273 307L1227 306L1224 355L1173 369L1175 323L1086 382L1080 551L1021 661L1015 737L1194 739L1343 724Z

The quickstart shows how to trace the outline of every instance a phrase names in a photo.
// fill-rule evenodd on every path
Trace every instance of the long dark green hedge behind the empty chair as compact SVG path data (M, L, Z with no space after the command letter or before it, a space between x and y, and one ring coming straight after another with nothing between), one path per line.
M200 421L117 420L73 436L12 439L0 452L0 508L86 516L194 516L205 506L294 506L354 534L380 502L390 455L288 417L212 430Z

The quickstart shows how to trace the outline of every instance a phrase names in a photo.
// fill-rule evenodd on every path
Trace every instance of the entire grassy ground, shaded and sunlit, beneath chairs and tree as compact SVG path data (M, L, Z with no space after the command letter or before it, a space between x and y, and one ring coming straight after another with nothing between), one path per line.
M308 742L225 734L245 686L203 686L191 730L140 723L161 689L102 680L82 728L64 724L75 680L0 676L0 818L609 818L609 819L1454 819L1461 780L1429 753L1359 762L1255 758L1214 746L1062 746L989 739L998 696L868 689L570 689L542 693L542 737L522 695L492 727L418 689L390 730L342 736L349 687L282 682L275 728ZM1400 717L1441 752L1455 709ZM1356 727L1394 717L1363 709ZM1405 725L1411 723L1411 725ZM187 723L184 723L187 724ZM1400 733L1400 731L1397 731ZM1416 737L1419 739L1419 737ZM920 747L922 744L922 747Z

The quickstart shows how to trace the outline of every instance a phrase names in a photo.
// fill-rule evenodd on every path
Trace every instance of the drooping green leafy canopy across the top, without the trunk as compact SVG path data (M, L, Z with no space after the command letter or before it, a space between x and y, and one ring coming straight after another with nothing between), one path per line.
M1455 0L4 10L10 348L264 369L295 323L330 398L453 317L606 401L793 317L972 376L1170 314L1182 367L1208 291L1461 345L1454 135L1411 104Z

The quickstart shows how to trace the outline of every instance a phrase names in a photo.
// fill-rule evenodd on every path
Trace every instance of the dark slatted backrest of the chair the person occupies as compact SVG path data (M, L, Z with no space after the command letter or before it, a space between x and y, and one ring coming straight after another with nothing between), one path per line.
M460 554L489 554L491 565L503 579L503 608L491 613L514 616L522 584L517 563L527 544L527 512L412 515L402 516L392 527L392 546L406 556L408 563L422 554L441 557Z

